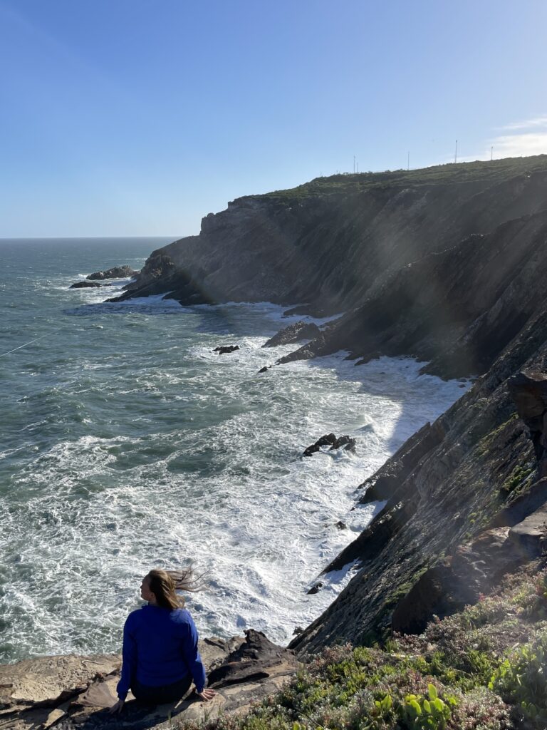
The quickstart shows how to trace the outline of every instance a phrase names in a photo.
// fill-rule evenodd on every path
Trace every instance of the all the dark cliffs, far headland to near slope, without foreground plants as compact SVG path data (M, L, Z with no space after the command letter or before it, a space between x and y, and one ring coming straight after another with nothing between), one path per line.
M480 376L363 485L364 501L387 505L328 566L357 561L359 572L292 647L421 631L540 556L547 394L516 375L547 377L546 274L542 155L339 176L240 199L207 216L199 237L154 252L128 288L124 296L171 292L182 303L345 310L280 363L345 349L364 361L418 356L442 377Z

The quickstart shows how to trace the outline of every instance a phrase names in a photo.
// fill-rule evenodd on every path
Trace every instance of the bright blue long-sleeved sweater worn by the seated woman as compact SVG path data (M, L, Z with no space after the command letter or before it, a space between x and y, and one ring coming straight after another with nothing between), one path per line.
M130 613L123 627L117 696L125 700L135 680L160 687L188 675L192 675L197 691L203 692L205 668L198 652L198 632L187 610L147 605Z

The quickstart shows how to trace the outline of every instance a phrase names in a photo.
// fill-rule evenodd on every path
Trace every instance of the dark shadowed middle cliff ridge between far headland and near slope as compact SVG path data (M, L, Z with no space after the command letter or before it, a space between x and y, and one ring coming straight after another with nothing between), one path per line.
M542 306L546 270L547 211L521 216L389 274L282 362L350 350L366 359L411 354L441 377L483 373Z

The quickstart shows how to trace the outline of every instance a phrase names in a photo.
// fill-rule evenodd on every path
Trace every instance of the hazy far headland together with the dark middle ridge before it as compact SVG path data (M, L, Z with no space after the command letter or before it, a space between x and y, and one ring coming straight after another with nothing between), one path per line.
M117 299L304 301L347 313L281 363L345 349L479 374L541 296L546 193L546 155L319 178L206 216L199 236L153 252Z

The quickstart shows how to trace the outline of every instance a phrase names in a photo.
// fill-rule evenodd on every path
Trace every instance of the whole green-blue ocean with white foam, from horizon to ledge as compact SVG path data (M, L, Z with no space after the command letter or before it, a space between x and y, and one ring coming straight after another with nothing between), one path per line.
M69 289L170 240L0 239L0 661L119 651L141 577L189 562L202 636L286 644L352 575L307 594L382 506L357 486L467 387L346 353L258 374L288 307ZM330 431L356 454L302 458Z

